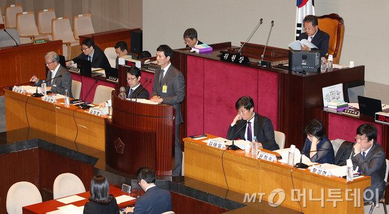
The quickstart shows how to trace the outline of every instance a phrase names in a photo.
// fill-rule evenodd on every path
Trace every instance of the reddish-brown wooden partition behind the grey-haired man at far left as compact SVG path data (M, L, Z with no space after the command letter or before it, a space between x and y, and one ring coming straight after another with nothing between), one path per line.
M44 64L44 55L49 51L55 51L62 55L62 40L1 48L1 93L3 93L3 87L29 82L33 75L36 75L41 80L46 79L47 72Z

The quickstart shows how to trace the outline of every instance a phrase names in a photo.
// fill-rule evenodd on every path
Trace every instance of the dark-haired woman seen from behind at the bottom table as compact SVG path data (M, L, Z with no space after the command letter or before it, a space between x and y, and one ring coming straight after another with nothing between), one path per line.
M119 214L119 206L113 195L109 195L109 184L106 177L96 175L90 181L90 198L84 206L84 214Z

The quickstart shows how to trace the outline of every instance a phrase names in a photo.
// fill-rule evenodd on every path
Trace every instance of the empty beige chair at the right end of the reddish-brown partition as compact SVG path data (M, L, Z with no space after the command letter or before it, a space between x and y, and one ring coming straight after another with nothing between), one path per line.
M58 17L51 20L51 31L53 32L53 40L63 41L63 55L66 60L73 59L81 53L79 42L74 39L70 21L67 17Z

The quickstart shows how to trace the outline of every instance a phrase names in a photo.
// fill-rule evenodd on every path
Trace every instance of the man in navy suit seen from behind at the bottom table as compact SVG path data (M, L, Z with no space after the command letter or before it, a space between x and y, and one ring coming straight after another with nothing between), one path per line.
M134 208L126 208L126 213L135 214L160 214L172 211L172 196L168 190L158 188L156 174L151 168L142 167L138 170L138 184L144 190L144 194L138 197Z

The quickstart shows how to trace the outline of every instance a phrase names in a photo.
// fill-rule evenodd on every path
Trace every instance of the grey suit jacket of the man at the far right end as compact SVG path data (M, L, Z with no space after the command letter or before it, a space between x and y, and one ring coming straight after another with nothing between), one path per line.
M356 154L354 156L355 152L353 151L351 154L351 161L354 165L354 170L356 169L356 166L361 168L361 172L365 175L371 176L371 185L370 187L366 188L370 189L374 193L374 199L377 197L380 199L383 195L383 190L385 190L385 173L386 173L386 155L385 152L383 152L383 149L381 148L381 145L378 143L374 143L372 148L370 149L369 153L366 154L366 157L362 157L362 152L359 154ZM379 190L379 195L377 196L376 189ZM370 197L370 193L366 193L367 197Z

